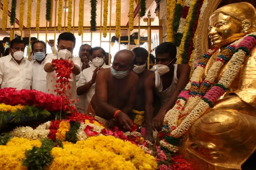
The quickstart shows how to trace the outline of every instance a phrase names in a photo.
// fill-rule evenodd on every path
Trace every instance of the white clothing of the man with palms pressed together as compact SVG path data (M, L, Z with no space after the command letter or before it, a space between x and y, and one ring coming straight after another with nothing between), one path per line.
M111 66L109 65L106 65L105 62L104 64L102 65L102 68L110 68ZM79 78L79 81L77 83L77 87L79 86L82 86L82 85L85 85L86 83L88 83L89 81L92 80L92 75L93 75L93 71L96 69L97 67L95 67L94 65L90 66L89 68L86 68L83 70L80 78ZM91 102L92 100L92 97L95 93L95 85L96 83L94 83L90 89L83 95L79 96L80 99L82 98L82 100L79 101L77 107L81 107L81 108L84 108L85 111L87 111L87 107L88 107L88 104Z

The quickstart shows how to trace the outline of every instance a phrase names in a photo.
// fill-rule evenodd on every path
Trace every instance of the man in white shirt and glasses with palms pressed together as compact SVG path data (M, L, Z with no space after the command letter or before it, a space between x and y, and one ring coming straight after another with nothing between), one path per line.
M80 79L77 84L77 95L85 97L85 101L82 106L86 113L89 102L91 101L95 93L95 81L97 72L101 68L110 68L105 64L106 52L101 47L94 47L90 50L92 66L83 70Z

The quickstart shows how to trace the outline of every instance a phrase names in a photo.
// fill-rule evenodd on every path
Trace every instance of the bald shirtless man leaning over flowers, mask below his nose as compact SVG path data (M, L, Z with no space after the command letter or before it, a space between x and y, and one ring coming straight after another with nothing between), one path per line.
M109 128L129 129L133 124L127 115L133 108L139 77L131 71L135 55L121 50L114 56L111 68L101 69L96 77L95 94L88 112L107 121Z

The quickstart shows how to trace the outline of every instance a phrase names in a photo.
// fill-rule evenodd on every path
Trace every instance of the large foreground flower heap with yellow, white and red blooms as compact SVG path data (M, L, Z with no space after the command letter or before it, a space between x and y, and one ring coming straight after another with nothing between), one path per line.
M125 133L117 127L112 130L106 129L93 117L79 113L72 113L66 119L48 121L35 129L18 127L0 136L3 141L0 141L0 150L3 151L0 152L0 159L3 156L6 158L0 162L0 167L9 168L15 160L15 166L20 169L26 169L22 167L23 163L27 168L33 166L39 169L48 165L49 169L54 170L63 167L192 170L183 158L172 157L159 146L144 140L141 133L132 131L135 129ZM29 145L26 146L27 151L17 149L22 146L20 141ZM8 149L12 149L11 153L16 154L14 158L11 159ZM18 151L19 154L16 153ZM22 158L23 161L20 161Z

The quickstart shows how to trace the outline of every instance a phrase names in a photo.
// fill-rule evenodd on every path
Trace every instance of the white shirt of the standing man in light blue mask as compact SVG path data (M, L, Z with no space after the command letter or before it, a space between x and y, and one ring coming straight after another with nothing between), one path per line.
M47 92L46 88L46 71L44 71L45 60L39 64L36 60L32 61L32 89Z

